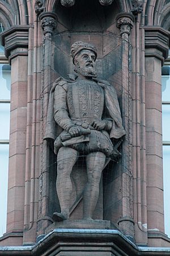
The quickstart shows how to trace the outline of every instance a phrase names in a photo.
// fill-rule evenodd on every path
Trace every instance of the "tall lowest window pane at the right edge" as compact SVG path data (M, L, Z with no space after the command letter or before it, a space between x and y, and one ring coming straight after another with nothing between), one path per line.
M170 146L163 146L163 172L164 172L164 217L165 217L165 234L170 237Z

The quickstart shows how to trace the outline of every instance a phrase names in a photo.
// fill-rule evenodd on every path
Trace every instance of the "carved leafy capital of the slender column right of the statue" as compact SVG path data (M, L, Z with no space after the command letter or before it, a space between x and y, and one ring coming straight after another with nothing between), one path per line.
M126 33L129 36L131 28L133 28L134 25L134 16L129 12L122 12L117 15L116 21L117 27L120 28L121 35Z

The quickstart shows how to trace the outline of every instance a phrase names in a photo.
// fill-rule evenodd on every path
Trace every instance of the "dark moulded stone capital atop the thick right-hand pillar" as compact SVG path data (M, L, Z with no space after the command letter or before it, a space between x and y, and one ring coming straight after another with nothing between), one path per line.
M143 26L145 30L145 56L156 57L164 62L168 57L170 32L157 26Z

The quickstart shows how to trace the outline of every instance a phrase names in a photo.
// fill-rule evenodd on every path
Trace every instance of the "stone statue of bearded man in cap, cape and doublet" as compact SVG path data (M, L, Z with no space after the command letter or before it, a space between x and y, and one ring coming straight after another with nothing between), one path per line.
M116 90L96 77L97 50L77 41L71 46L75 74L59 77L50 91L46 136L57 154L57 195L61 212L54 221L69 219L71 171L78 156L86 156L87 184L83 190L83 219L92 220L101 173L118 151L112 139L124 136Z

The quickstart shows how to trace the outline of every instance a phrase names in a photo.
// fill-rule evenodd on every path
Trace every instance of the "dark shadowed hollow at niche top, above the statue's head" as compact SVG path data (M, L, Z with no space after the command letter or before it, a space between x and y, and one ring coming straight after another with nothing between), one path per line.
M58 23L65 30L103 32L116 21L115 17L121 12L121 6L118 1L113 1L109 6L102 6L98 0L81 0L66 8L60 1L56 1L53 11L57 14Z

